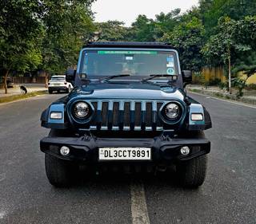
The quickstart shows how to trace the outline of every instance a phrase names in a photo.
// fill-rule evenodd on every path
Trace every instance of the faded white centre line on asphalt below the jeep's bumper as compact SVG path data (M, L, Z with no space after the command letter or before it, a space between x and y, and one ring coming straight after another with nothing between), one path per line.
M130 184L130 195L132 223L150 224L143 183L132 182Z

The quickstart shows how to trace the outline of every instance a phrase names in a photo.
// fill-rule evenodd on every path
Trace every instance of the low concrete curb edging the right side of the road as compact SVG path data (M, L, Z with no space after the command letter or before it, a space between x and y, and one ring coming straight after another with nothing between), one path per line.
M202 93L206 96L214 96L217 98L221 98L221 99L225 99L225 100L233 100L236 102L241 102L241 103L245 103L245 104L252 104L252 105L256 105L256 100L254 99L248 99L248 98L244 98L242 97L241 99L237 99L236 96L234 95L230 95L230 94L226 94L224 92L210 92L210 91L205 91L203 89L198 89L198 88L187 88L190 92L195 92L195 93Z

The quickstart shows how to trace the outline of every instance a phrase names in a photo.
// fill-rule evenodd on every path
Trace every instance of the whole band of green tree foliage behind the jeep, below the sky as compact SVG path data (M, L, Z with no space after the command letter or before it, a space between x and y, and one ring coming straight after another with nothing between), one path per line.
M75 67L89 40L168 41L178 49L182 69L224 65L246 77L256 72L256 1L199 0L198 6L155 18L138 15L123 22L94 22L94 0L0 1L0 71L44 70L63 73ZM1 75L1 74L0 74ZM242 81L233 84L242 86Z

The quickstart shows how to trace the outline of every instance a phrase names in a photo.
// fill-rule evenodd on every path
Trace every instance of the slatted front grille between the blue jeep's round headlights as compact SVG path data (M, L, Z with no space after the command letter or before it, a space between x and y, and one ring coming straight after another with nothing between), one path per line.
M162 131L158 112L164 102L91 100L94 117L91 130Z

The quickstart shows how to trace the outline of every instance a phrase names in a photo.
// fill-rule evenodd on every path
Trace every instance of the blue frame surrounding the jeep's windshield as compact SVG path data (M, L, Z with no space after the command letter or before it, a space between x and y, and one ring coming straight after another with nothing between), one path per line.
M178 52L174 49L142 49L142 48L85 48L82 49L81 53L80 53L80 61L78 63L78 74L82 73L82 67L83 67L83 63L85 60L85 55L87 52L97 52L97 51L154 51L154 52L158 52L158 53L172 53L174 55L174 67L176 70L176 75L178 75L178 79L180 79L181 76L181 70L180 70L180 65L179 65L179 60L178 60ZM142 78L145 78L147 76L150 76L151 74L154 73L149 73L146 75L133 75L131 77L125 77L125 78L118 78L118 80L141 80ZM113 73L112 75L118 75ZM170 75L171 76L171 75ZM106 75L102 74L102 75L98 75L98 76L88 76L87 78L90 80L97 80L100 77L107 77ZM161 80L164 78L161 78ZM168 78L166 78L167 80Z

